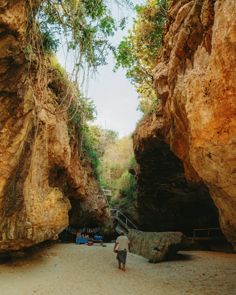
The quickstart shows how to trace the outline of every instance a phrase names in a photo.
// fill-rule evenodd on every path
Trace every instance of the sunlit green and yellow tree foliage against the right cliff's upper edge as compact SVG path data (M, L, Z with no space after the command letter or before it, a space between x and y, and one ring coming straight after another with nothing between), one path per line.
M133 29L128 31L127 37L123 37L115 55L114 71L120 66L126 69L126 77L140 94L138 109L142 112L147 110L144 104L150 105L157 99L152 89L152 71L167 18L167 7L168 0L147 0L145 5L136 5L137 18L133 18Z

